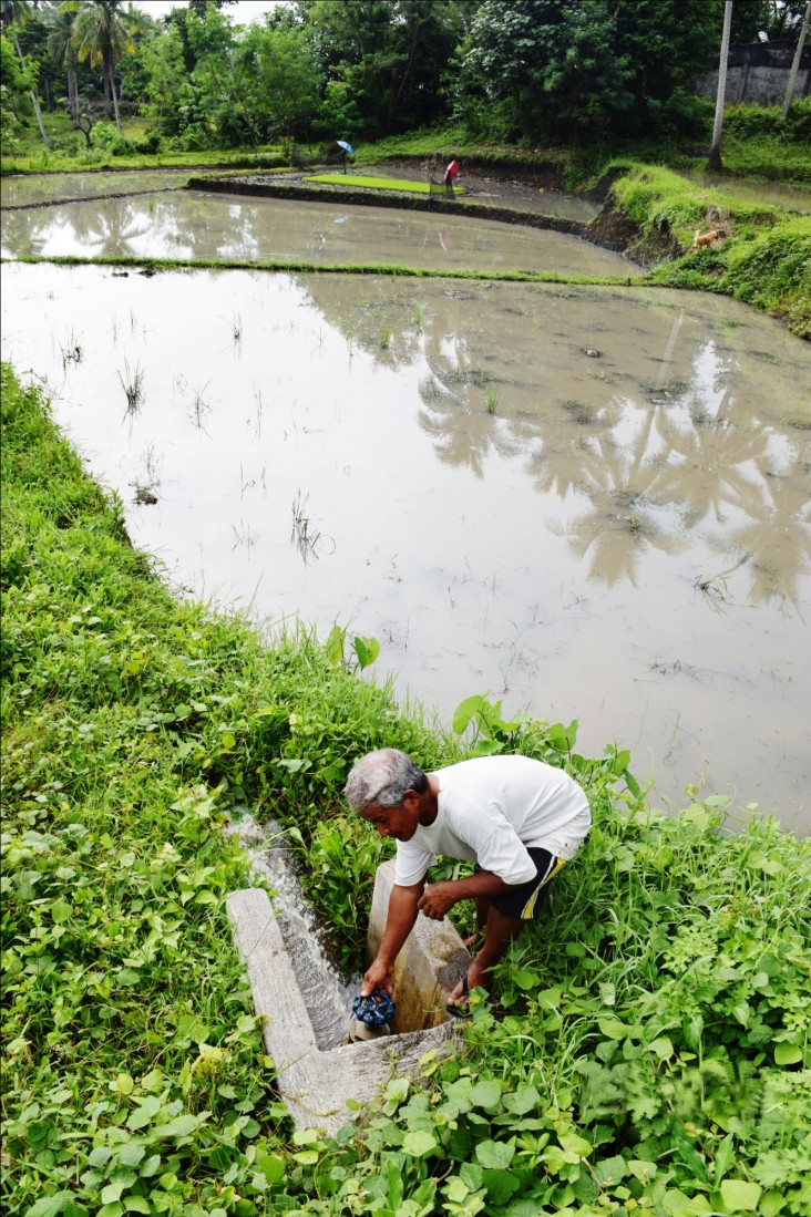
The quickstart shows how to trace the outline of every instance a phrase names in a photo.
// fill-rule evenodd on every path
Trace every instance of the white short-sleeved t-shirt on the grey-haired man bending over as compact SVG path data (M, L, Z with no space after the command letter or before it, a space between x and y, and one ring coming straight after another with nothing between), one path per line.
M527 846L574 858L592 823L586 795L567 773L531 757L475 757L437 769L438 811L397 842L395 882L410 887L437 854L477 862L505 884L536 875Z

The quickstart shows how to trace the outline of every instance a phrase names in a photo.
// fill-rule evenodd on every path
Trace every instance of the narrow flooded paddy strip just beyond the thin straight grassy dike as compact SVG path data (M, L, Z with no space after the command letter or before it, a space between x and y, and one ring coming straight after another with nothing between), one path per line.
M426 212L197 191L9 211L4 213L1 247L9 258L129 254L626 277L641 274L620 254L560 232Z

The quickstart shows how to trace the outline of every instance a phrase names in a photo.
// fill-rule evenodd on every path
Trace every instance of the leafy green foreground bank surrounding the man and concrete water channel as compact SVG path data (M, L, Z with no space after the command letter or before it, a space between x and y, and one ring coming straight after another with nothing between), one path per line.
M392 1081L337 1143L291 1135L229 944L229 808L301 834L357 966L386 845L346 818L346 767L464 742L335 638L178 602L7 368L2 411L6 1212L807 1213L811 841L721 835L723 801L662 818L627 755L496 713L496 746L583 781L591 839L466 1059Z

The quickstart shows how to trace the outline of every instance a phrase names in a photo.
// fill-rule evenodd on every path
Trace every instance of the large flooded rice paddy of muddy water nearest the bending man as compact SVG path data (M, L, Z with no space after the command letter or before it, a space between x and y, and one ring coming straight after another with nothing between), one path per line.
M656 806L694 785L807 830L807 344L644 287L2 279L4 358L179 587L351 623L444 718L577 718Z

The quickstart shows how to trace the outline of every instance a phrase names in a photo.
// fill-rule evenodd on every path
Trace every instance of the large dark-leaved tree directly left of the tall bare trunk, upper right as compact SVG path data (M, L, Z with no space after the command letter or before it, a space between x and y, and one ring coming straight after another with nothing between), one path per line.
M462 55L458 108L477 91L511 136L664 134L716 55L717 26L714 0L485 0Z

